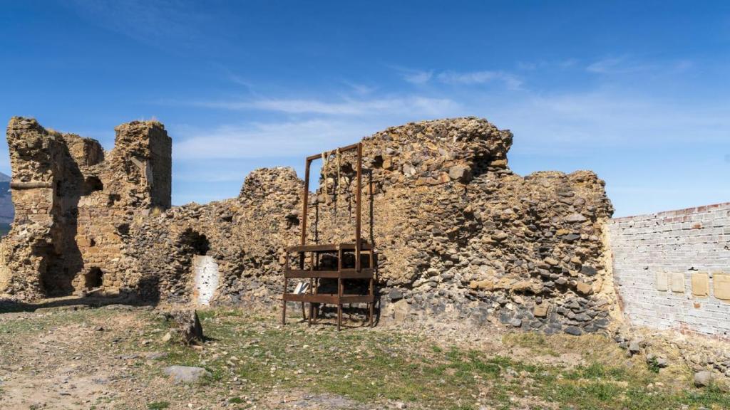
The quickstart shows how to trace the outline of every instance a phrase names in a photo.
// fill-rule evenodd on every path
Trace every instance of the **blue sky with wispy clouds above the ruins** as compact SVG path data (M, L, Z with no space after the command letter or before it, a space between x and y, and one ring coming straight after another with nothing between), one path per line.
M476 115L616 216L730 201L727 1L0 0L0 118L113 145L156 118L173 204L389 125ZM0 171L9 173L7 150Z

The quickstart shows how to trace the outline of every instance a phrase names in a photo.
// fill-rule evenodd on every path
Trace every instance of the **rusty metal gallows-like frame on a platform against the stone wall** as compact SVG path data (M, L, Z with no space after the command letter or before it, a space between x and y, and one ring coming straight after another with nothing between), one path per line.
M367 244L361 237L362 225L362 143L347 145L340 147L337 152L356 151L356 216L355 216L355 243L341 244L313 244L307 245L307 214L309 212L309 193L310 193L310 165L312 161L323 158L324 155L330 155L331 152L323 152L317 155L310 155L305 160L304 166L304 193L302 193L302 214L301 214L301 239L299 246L288 247L286 249L286 260L284 268L284 290L283 290L283 309L282 309L282 325L286 325L286 303L288 301L301 302L302 315L304 314L304 303L310 305L309 309L309 325L312 320L316 319L314 303L334 304L337 305L337 330L342 326L342 304L343 303L368 303L369 325L373 325L374 313L374 250L371 244ZM325 182L326 183L326 182ZM338 182L339 183L339 182ZM343 268L342 257L344 252L354 251L355 268ZM304 269L304 260L306 253L310 253L310 268ZM318 269L319 257L322 253L337 252L337 271L326 271ZM369 255L368 268L362 268L362 254ZM299 269L291 268L292 254L299 255ZM308 293L288 293L288 279L310 279L310 288ZM319 279L337 279L337 293L318 293ZM362 294L345 294L344 279L364 279L369 280L369 292Z

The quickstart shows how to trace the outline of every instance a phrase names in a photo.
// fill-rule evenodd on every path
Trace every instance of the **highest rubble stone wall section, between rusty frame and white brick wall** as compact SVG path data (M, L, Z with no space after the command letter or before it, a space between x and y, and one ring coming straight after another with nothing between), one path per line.
M363 142L374 220L366 212L365 237L380 252L385 314L500 320L548 333L608 325L615 296L603 288L602 236L612 206L595 174L515 175L507 166L512 134L476 118L412 123ZM337 160L328 166L332 179ZM353 186L352 175L341 177ZM330 198L318 191L310 238L316 225L320 241L353 239L351 228L337 228L335 185ZM352 208L351 189L342 202Z

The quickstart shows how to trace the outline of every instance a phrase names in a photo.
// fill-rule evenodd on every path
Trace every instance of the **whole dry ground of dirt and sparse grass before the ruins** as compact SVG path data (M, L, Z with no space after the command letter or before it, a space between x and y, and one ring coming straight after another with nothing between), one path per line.
M0 312L0 409L730 408L720 387L692 387L683 363L657 371L606 336L438 323L338 333L226 308L199 311L208 339L183 347L164 341L173 324L162 308L43 301ZM169 365L210 375L175 384Z

